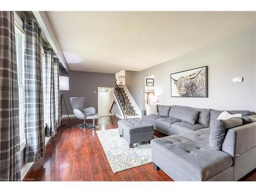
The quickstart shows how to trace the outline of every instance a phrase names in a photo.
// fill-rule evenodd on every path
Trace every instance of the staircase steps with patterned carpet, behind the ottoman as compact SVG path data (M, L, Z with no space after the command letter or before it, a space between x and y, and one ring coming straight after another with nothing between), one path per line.
M138 116L136 111L134 110L134 106L132 105L130 99L124 91L122 86L115 86L115 95L121 107L121 110L124 114L124 118L133 118L134 116Z

